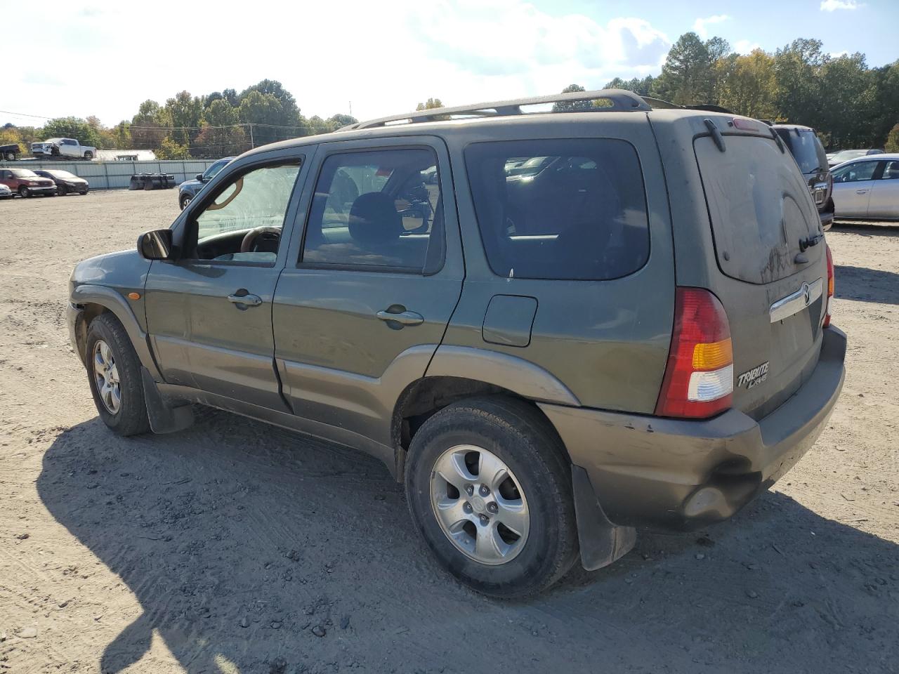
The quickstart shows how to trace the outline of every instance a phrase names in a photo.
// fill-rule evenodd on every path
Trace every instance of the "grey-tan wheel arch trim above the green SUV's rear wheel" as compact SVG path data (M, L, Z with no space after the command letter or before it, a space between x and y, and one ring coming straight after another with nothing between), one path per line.
M464 346L441 346L428 367L428 377L466 377L502 386L541 403L579 407L565 384L529 360L499 351Z

